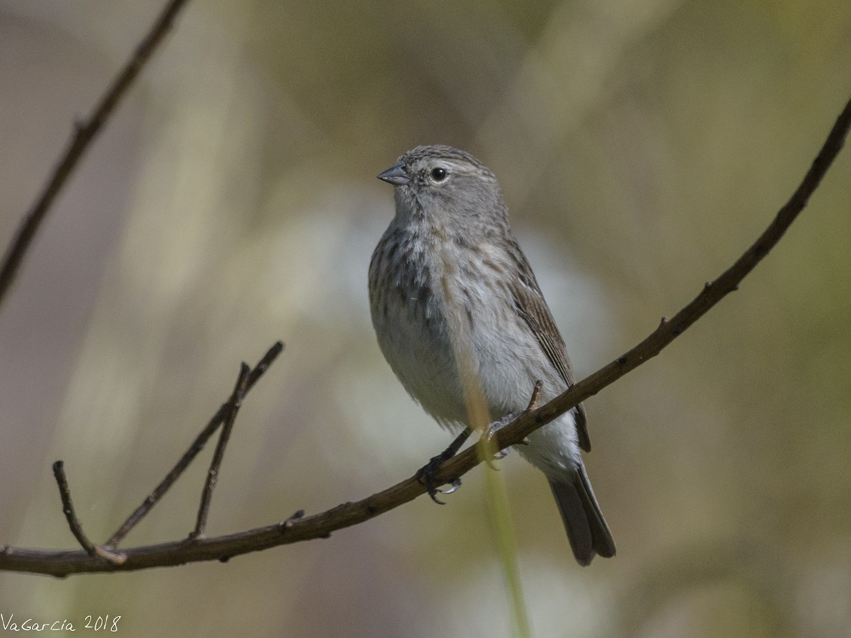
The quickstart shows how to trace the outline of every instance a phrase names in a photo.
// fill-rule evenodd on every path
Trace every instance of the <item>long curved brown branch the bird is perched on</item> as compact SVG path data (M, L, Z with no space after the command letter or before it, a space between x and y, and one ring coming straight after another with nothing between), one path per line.
M797 215L807 205L809 197L818 187L827 169L842 148L849 127L851 127L851 101L848 102L837 119L831 133L825 140L825 145L789 202L786 202L785 206L780 208L780 212L774 221L768 225L768 228L759 236L757 241L736 260L734 265L724 271L714 282L707 282L700 294L691 303L683 307L670 320L663 319L659 328L656 328L647 339L644 339L623 356L571 386L569 390L557 396L551 402L527 410L511 424L507 424L504 428L498 430L494 435L495 447L502 449L520 443L529 433L556 419L578 403L611 385L615 380L620 379L643 362L656 356L660 350L670 344L701 316L705 315L724 296L738 288L739 283L774 248ZM443 464L437 471L436 479L450 482L470 471L481 461L476 447L470 447ZM304 516L303 512L299 511L281 523L246 532L216 538L186 538L170 543L123 550L122 554L126 556L126 560L120 565L105 561L99 556L89 555L84 550L30 550L3 546L0 548L0 569L66 576L67 574L82 572L117 572L148 567L166 567L194 561L226 561L234 555L266 550L277 545L296 543L313 538L328 538L332 532L338 529L368 521L370 518L407 503L425 492L426 488L420 484L415 476L412 476L380 493L373 494L356 503L341 504L321 514Z

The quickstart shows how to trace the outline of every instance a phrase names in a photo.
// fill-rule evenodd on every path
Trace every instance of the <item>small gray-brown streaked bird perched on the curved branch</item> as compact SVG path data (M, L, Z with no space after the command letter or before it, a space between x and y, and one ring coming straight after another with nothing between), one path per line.
M522 412L539 379L542 401L572 385L494 174L469 153L431 145L378 177L395 186L396 216L369 264L369 302L381 351L414 400L448 429L469 432L465 375L494 419ZM591 449L581 405L517 450L550 481L574 556L588 565L615 550L580 448Z

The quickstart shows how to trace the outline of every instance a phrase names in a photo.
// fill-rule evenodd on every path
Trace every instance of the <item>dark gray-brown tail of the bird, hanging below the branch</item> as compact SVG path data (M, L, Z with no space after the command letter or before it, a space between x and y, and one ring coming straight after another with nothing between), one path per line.
M563 481L550 480L552 495L568 532L570 548L580 565L590 565L594 555L614 556L614 538L594 497L591 481L580 464Z

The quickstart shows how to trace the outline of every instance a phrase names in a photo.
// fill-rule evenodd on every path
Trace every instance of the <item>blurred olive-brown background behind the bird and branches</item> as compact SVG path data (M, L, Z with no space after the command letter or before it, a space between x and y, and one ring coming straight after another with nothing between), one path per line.
M0 0L0 240L162 2ZM208 533L363 498L449 441L375 343L374 178L421 143L499 176L579 376L717 276L851 91L847 0L190 3L0 311L0 543L106 539L231 391ZM618 555L574 562L544 477L501 464L535 636L851 635L851 152L740 292L586 402ZM212 446L127 538L182 538ZM66 580L18 621L121 635L506 636L483 468L331 538Z

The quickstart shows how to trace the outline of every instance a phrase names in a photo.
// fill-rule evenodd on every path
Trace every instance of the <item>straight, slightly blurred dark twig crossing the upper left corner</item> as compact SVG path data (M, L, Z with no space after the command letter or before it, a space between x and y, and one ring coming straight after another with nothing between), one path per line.
M83 157L83 153L89 148L94 137L100 133L107 118L115 111L116 106L122 100L128 89L133 85L134 80L139 75L139 72L145 66L146 62L151 59L151 54L156 50L157 46L163 41L166 33L174 23L174 18L180 13L180 9L186 4L186 0L169 0L163 8L157 21L151 26L146 37L136 47L134 54L124 65L123 69L118 73L117 77L112 81L111 86L106 90L106 94L100 99L100 102L95 106L88 120L78 122L74 127L74 137L71 144L68 145L65 153L60 158L59 163L54 168L54 173L50 177L48 183L44 186L43 191L33 202L32 207L26 214L26 217L21 220L17 234L14 236L12 243L6 251L3 258L3 265L0 267L0 305L3 304L3 299L9 288L14 282L14 276L17 274L21 263L26 256L26 251L30 248L30 244L41 226L45 217L53 205L56 197L59 195L62 187L66 185L68 178L77 168L77 163Z

